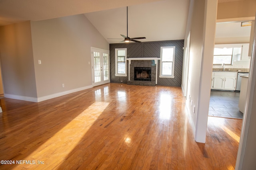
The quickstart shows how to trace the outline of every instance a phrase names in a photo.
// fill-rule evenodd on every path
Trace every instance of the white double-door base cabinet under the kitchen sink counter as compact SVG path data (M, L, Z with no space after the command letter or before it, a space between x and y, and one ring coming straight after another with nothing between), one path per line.
M212 72L211 89L236 90L237 72Z

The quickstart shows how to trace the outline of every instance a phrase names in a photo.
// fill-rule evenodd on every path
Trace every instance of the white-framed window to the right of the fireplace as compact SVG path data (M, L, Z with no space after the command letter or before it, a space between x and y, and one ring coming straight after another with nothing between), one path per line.
M161 47L160 78L174 78L175 47Z

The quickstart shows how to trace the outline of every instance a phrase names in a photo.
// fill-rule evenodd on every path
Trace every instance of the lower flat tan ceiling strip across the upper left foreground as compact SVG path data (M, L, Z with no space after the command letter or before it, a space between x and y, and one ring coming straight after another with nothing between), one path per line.
M0 25L40 21L159 0L0 0Z

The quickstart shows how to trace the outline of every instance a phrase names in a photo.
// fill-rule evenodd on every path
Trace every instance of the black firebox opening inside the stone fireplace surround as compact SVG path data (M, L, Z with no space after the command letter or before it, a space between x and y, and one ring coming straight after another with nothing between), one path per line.
M151 67L134 67L134 80L151 81Z

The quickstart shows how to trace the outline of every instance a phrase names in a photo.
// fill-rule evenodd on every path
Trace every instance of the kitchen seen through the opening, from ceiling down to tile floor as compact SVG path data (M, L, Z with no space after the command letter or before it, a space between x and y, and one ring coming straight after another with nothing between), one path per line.
M241 22L216 24L209 116L243 118L250 68L250 29Z

